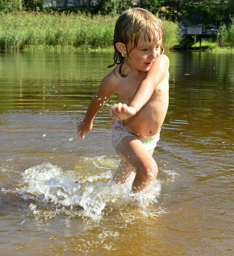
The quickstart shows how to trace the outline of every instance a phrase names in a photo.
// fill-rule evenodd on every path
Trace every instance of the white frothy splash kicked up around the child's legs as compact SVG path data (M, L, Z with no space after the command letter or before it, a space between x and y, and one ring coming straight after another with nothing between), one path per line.
M132 173L125 184L114 182L85 183L74 182L74 173L64 171L60 166L43 163L25 171L21 180L23 192L43 195L46 201L62 206L81 206L83 215L97 219L102 217L105 207L117 208L123 204L137 205L141 209L156 202L160 195L160 183L155 181L149 193L131 192L135 174ZM92 179L91 179L92 180ZM37 214L35 207L32 207Z

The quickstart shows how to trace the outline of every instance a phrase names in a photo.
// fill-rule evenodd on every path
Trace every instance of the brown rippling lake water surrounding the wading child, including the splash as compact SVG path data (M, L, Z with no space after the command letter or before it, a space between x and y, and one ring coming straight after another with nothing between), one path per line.
M112 55L0 52L0 255L234 254L234 54L167 55L158 180L139 207L133 176L111 183L109 105L76 132Z

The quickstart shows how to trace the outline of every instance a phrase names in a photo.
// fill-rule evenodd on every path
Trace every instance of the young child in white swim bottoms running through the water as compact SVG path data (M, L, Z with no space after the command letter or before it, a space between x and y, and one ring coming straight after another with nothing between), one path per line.
M121 162L113 180L124 183L131 172L136 172L133 192L148 190L157 177L152 155L166 116L169 88L169 60L163 54L163 36L162 21L145 9L128 9L118 17L114 64L109 67L117 66L103 79L85 119L77 127L84 138L97 112L112 93L117 93L119 103L113 105L110 117L115 115L112 144Z

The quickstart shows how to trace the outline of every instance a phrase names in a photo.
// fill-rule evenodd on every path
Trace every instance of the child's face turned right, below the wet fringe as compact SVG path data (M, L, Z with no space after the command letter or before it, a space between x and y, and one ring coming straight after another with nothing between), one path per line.
M158 40L158 33L155 32L151 37L151 41L148 41L148 36L146 35L146 40L144 37L139 38L137 42L137 47L131 50L126 58L127 65L134 71L147 72L154 60L161 53L162 40ZM128 45L128 47L131 47Z

